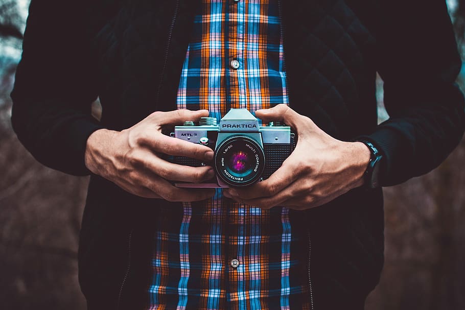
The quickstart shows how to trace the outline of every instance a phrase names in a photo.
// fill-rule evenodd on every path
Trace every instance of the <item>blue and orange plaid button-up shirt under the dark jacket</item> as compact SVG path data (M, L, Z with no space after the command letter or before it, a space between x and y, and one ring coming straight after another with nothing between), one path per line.
M203 0L178 108L208 109L220 120L230 108L288 103L280 27L276 0ZM307 309L289 212L233 203L220 189L207 202L161 208L149 309Z

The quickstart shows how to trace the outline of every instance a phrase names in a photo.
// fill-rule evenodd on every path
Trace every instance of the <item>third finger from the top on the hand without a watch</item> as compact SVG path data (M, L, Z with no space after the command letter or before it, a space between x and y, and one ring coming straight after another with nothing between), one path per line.
M211 166L192 167L172 163L154 156L149 150L141 151L137 157L139 161L135 166L142 166L165 180L201 183L215 176Z

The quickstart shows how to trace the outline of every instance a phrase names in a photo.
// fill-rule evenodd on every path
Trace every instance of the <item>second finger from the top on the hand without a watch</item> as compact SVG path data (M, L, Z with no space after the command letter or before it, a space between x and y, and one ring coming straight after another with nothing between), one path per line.
M143 137L140 137L138 144L147 146L158 153L200 160L212 160L214 155L211 148L169 137L156 131L153 134L146 133Z

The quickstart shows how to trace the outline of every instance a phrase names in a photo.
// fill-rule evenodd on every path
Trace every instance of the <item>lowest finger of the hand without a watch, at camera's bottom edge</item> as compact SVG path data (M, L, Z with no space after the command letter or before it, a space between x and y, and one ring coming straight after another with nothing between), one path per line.
M215 195L213 188L178 188L168 181L153 176L145 184L162 199L172 202L192 202L211 198Z

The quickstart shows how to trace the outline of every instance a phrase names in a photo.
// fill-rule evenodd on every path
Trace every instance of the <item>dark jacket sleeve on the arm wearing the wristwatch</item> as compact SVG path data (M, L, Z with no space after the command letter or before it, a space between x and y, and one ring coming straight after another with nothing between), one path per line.
M457 146L464 100L461 68L444 0L382 0L377 69L390 118L361 137L381 149L382 186L436 168Z

